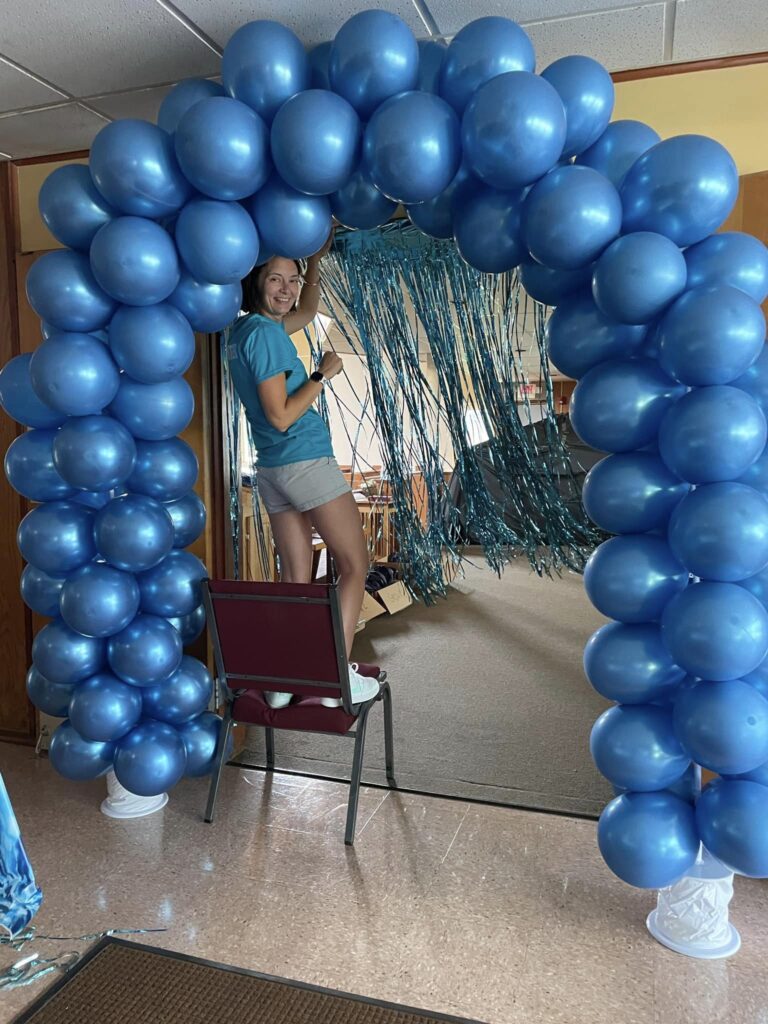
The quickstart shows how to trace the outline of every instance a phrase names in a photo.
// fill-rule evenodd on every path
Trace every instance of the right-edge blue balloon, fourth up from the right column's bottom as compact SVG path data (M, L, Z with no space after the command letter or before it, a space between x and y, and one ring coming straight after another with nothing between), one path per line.
M745 580L768 565L768 498L744 483L698 486L672 513L669 542L701 580Z

